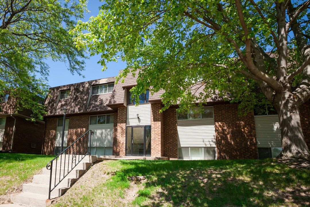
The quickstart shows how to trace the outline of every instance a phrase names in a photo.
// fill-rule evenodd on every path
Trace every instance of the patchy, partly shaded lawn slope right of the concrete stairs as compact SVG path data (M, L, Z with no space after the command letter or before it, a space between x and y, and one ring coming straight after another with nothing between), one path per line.
M138 175L151 177L127 179ZM103 161L83 177L54 206L310 205L310 170L271 159Z

